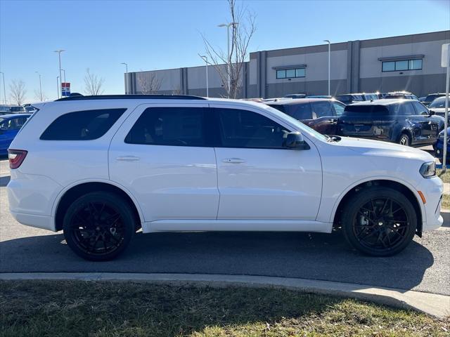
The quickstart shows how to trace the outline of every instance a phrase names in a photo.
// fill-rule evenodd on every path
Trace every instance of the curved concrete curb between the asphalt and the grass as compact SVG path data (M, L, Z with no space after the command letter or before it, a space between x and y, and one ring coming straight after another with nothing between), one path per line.
M421 293L393 288L375 288L364 284L295 279L286 277L263 277L246 275L207 274L140 274L110 272L32 272L2 273L1 280L79 280L79 281L132 281L168 284L195 284L197 286L249 286L295 289L308 293L344 296L369 300L395 308L411 309L442 319L450 315L450 296Z

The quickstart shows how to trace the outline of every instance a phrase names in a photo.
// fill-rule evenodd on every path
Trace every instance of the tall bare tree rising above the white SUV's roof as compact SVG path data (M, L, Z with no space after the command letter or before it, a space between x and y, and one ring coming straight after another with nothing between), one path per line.
M247 57L248 45L255 34L255 15L250 13L246 8L236 6L236 0L228 0L230 25L231 25L231 41L230 55L224 53L221 48L212 46L204 36L206 53L211 60L210 64L214 67L221 78L221 82L225 88L226 96L229 98L237 98L240 84L243 79L243 67Z

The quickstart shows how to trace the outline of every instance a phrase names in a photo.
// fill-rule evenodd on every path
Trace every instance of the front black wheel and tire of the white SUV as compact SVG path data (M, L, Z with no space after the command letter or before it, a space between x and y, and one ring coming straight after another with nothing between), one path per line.
M389 187L367 187L356 192L342 212L347 242L370 256L392 256L408 246L417 227L411 201Z

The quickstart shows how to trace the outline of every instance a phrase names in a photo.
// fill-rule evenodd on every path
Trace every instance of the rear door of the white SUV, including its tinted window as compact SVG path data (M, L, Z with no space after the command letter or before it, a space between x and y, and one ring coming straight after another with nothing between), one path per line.
M216 157L205 107L140 105L115 134L110 179L131 191L146 222L217 218Z

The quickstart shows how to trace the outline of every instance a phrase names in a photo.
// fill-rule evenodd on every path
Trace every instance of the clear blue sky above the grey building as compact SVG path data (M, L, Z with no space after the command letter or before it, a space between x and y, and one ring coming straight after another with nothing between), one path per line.
M373 39L450 29L450 0L243 1L257 15L250 51ZM0 71L6 95L25 81L34 101L39 71L44 93L56 98L58 48L72 92L84 91L86 68L105 79L104 93L123 93L129 71L201 65L201 34L226 48L226 1L0 0ZM3 88L1 89L3 100Z

